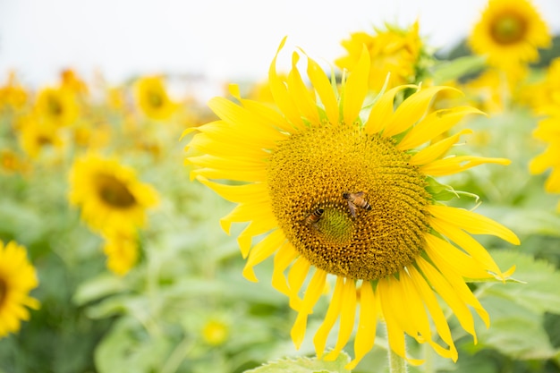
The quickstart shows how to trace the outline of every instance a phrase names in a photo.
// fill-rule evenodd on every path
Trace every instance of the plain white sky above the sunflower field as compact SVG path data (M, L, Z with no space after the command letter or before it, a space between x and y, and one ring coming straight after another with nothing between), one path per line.
M514 0L512 0L514 1ZM332 62L340 41L384 21L420 19L433 47L471 30L486 0L0 0L0 81L58 80L65 67L120 82L134 73L261 79L280 40ZM533 0L560 33L560 0ZM286 58L289 60L289 57Z

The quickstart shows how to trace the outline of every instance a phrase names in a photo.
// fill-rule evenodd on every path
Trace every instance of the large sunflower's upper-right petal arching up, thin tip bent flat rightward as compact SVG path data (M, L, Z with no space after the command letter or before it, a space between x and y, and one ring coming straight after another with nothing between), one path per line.
M414 123L420 121L420 118L426 114L432 98L436 96L437 92L444 89L460 92L458 89L444 86L420 89L406 98L403 103L397 107L395 114L391 116L389 122L386 124L383 135L386 137L395 136L396 134L408 130Z

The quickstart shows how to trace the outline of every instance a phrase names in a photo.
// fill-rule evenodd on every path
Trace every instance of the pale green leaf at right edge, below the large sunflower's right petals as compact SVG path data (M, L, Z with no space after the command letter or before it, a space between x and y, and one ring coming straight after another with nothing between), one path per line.
M492 256L502 268L516 266L513 276L526 284L496 284L486 292L541 314L560 313L560 272L544 260L520 252L494 250Z

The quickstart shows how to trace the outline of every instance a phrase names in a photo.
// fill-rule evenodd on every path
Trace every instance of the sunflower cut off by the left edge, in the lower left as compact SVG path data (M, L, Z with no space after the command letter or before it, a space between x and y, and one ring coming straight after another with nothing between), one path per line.
M0 241L0 338L20 330L21 321L30 319L30 309L39 302L29 293L38 286L37 274L24 247Z

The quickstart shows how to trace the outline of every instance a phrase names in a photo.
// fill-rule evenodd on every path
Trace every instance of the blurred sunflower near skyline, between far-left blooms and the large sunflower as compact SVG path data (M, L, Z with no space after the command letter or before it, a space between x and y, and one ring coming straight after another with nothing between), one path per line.
M142 113L156 120L169 119L178 107L167 95L162 78L157 76L136 82L136 101Z

